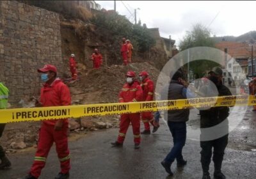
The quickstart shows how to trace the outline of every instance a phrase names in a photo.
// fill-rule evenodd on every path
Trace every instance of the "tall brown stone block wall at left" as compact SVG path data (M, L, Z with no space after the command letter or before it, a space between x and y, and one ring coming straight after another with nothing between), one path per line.
M10 102L39 95L37 68L56 65L63 72L60 17L17 1L0 1L0 81L10 89Z

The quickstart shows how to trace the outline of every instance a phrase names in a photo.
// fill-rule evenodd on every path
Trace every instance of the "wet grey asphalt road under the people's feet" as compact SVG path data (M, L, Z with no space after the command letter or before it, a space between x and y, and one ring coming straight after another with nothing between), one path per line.
M248 109L244 119L230 132L230 143L222 167L227 178L256 178L256 115ZM202 178L200 143L196 139L196 128L198 128L198 116L197 111L194 110L188 123L188 139L183 151L188 165L183 169L177 169L174 162L172 165L174 176L168 176L160 164L172 146L170 131L162 120L156 134L142 136L139 150L133 148L131 127L122 148L112 148L110 145L116 139L117 128L92 132L77 141L71 141L69 143L72 157L70 179ZM0 171L0 178L17 179L26 176L34 155L35 149L31 152L10 155L13 167L10 170ZM58 157L52 147L40 178L54 178L59 169ZM210 173L212 176L212 163Z

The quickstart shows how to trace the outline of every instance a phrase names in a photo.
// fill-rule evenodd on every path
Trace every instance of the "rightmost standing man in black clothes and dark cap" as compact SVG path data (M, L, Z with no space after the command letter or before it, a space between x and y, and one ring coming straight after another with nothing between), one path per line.
M222 74L221 68L214 67L209 72L209 80L216 86L218 96L232 95L230 90L221 82ZM209 91L212 90L204 86L200 92L204 93L205 97L209 97L211 96ZM221 164L228 143L228 112L228 107L211 107L210 109L200 111L200 146L202 148L201 164L203 179L211 179L209 175L209 165L211 163L212 148L214 149L212 157L214 162L214 178L226 178L225 175L221 173Z

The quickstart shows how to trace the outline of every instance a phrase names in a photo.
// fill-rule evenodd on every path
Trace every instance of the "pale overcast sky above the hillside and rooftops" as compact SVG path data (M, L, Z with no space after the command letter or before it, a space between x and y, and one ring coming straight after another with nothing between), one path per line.
M106 10L114 9L114 1L96 2ZM140 19L147 27L159 27L161 36L171 35L176 45L197 22L216 36L239 36L256 30L256 1L116 1L116 11L131 22L135 8L140 8L137 22Z

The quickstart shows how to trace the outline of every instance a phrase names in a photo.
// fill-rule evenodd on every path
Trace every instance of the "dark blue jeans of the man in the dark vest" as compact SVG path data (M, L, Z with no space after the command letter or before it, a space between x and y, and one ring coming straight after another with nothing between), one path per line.
M170 153L164 159L166 162L172 164L176 159L177 162L183 159L182 148L186 143L186 122L172 122L168 121L168 127L172 133L173 137L173 147Z

